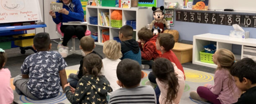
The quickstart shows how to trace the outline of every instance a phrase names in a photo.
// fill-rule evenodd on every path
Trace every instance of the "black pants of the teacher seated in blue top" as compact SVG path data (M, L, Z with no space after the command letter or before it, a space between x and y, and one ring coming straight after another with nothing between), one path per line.
M68 41L73 35L76 35L80 40L85 36L86 29L86 25L62 25L60 27L61 32L64 33L62 45L67 46Z

